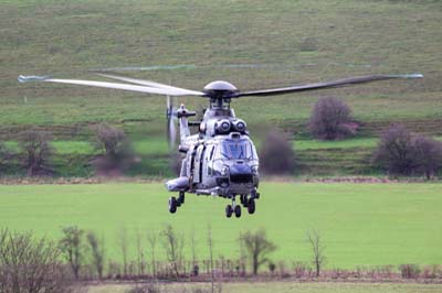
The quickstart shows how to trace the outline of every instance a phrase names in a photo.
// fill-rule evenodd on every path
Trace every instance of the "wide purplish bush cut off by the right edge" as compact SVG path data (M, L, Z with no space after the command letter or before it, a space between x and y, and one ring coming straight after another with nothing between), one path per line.
M442 143L392 124L380 138L373 163L392 174L424 174L430 178L442 166Z

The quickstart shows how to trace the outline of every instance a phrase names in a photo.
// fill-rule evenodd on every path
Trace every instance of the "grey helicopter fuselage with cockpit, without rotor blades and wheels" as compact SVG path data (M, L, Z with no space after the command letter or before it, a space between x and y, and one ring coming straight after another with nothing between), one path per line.
M245 122L228 104L212 104L191 134L186 112L183 106L178 110L179 150L186 158L180 176L166 183L168 191L229 198L256 194L259 158Z

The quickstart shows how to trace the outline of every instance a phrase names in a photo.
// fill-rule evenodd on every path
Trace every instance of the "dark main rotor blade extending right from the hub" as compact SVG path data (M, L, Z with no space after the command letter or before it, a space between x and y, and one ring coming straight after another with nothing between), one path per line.
M350 77L350 78L338 79L338 80L326 82L326 83L316 83L316 84L298 85L298 86L292 86L292 87L243 91L243 93L238 93L236 95L234 95L234 97L284 95L284 94L291 94L291 93L296 93L296 91L307 91L307 90L318 90L318 89L326 89L326 88L344 87L344 86L350 86L350 85L356 85L356 84L367 84L367 83L387 80L387 79L422 78L422 77L423 77L422 74L358 76L358 77Z

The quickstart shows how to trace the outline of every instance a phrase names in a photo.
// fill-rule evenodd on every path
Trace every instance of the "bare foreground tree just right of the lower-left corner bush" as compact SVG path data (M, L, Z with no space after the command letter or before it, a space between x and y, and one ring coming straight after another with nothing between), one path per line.
M82 229L75 226L62 228L63 237L60 240L60 248L71 265L76 280L80 276L80 268L83 261L83 234Z

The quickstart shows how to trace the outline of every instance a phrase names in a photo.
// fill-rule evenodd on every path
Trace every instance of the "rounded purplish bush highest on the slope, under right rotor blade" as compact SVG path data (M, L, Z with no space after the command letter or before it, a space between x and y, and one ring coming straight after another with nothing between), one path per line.
M340 140L356 134L350 108L340 99L319 99L312 111L308 130L320 140Z

